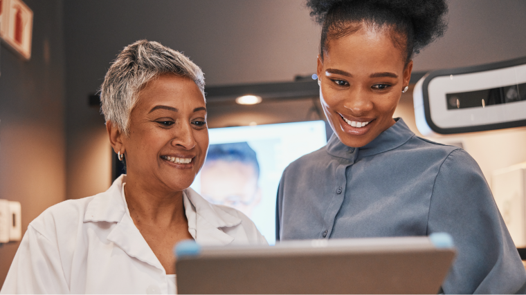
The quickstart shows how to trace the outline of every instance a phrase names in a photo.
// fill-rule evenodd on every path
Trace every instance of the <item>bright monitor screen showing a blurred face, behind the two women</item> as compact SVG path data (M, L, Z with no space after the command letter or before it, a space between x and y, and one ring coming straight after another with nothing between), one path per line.
M210 147L192 189L242 211L275 244L275 199L283 170L327 143L325 122L210 129Z

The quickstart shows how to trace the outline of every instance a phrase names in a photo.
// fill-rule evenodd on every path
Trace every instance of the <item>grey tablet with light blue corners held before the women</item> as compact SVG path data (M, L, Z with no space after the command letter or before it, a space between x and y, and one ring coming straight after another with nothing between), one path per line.
M448 234L300 240L275 246L176 246L179 295L435 295L455 249Z

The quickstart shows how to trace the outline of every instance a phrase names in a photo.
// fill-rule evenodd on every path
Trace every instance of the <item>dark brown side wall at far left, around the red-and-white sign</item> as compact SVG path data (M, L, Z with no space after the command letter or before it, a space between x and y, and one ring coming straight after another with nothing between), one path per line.
M30 61L1 46L0 198L21 202L22 230L66 200L62 0L24 0L35 12ZM0 247L0 286L19 242Z

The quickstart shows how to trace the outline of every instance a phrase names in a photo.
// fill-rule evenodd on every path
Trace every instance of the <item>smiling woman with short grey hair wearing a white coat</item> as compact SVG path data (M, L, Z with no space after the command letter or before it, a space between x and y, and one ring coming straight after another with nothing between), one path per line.
M189 189L208 149L201 69L156 42L127 46L102 84L127 175L30 223L0 294L175 294L176 242L264 244L239 211Z

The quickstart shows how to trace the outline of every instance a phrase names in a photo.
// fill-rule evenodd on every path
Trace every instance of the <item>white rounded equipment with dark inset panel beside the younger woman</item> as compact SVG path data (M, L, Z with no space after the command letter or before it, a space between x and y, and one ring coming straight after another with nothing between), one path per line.
M435 70L417 82L413 102L423 135L526 126L526 57Z

